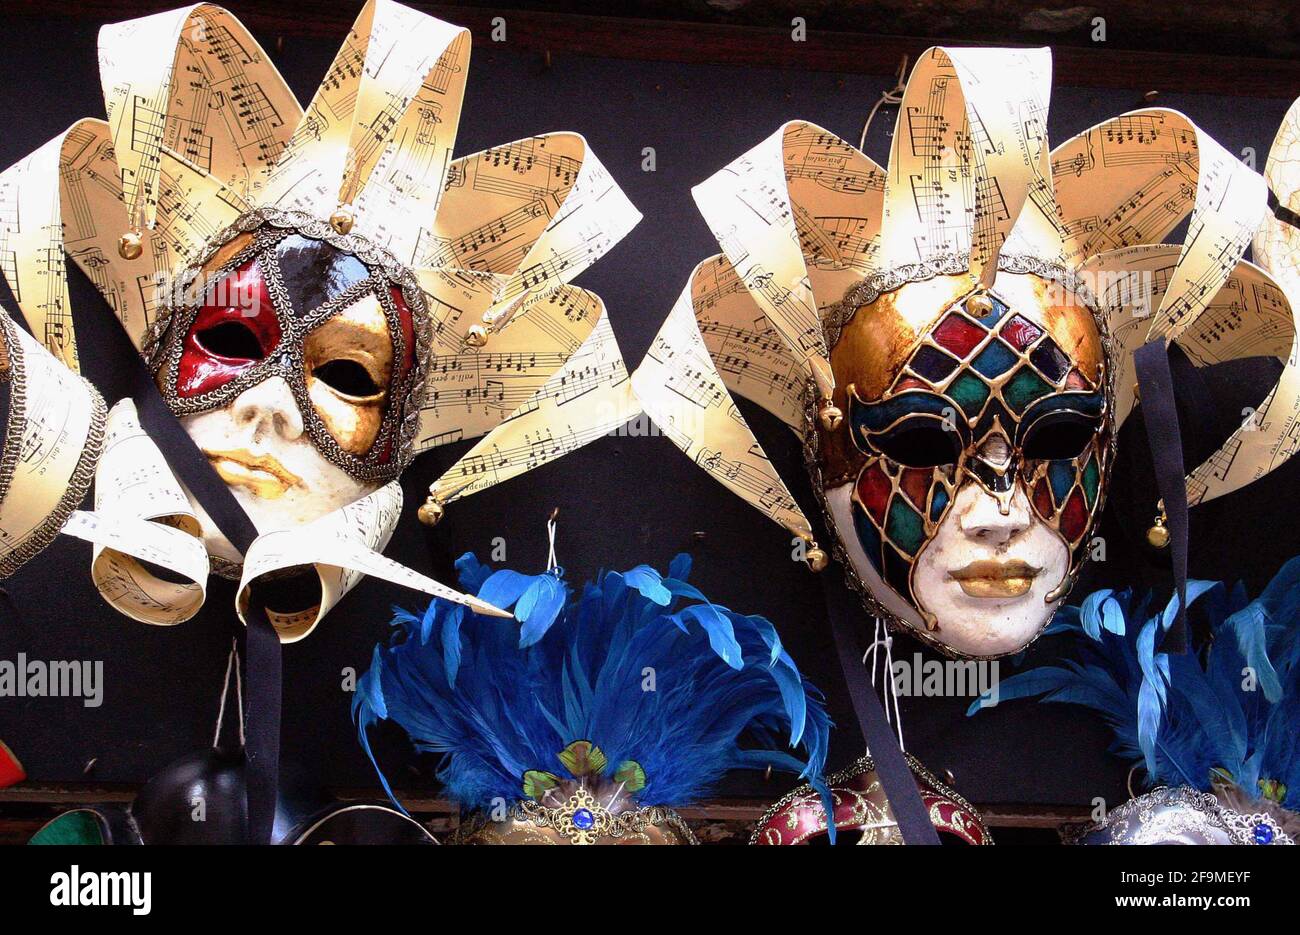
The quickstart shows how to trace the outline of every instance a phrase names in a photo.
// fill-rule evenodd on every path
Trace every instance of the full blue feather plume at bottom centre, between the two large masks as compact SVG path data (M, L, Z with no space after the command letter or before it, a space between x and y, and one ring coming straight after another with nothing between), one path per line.
M649 566L604 572L578 593L558 573L493 571L456 562L462 588L516 620L434 599L395 610L374 649L352 715L367 731L399 724L421 752L443 754L438 779L468 808L524 798L524 772L566 772L558 754L588 740L606 775L636 761L640 805L681 806L732 769L798 772L822 782L831 722L820 693L762 616L711 603L686 583L690 559L667 576ZM785 748L785 749L783 749Z

